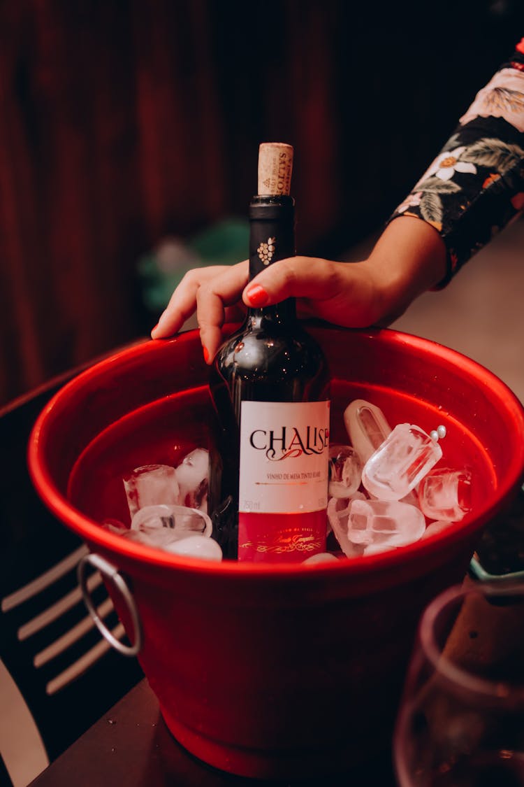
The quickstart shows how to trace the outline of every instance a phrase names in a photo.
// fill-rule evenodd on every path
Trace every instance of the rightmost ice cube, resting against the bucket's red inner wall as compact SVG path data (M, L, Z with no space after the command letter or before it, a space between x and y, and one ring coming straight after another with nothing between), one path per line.
M471 472L432 470L420 481L419 502L428 519L460 522L471 511Z

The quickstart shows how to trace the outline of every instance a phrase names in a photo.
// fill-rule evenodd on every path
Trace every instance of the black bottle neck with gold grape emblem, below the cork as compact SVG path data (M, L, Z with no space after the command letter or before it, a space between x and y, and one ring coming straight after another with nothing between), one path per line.
M269 265L295 256L295 201L287 195L258 195L249 205L249 280ZM296 319L295 298L247 310L247 320L289 323Z

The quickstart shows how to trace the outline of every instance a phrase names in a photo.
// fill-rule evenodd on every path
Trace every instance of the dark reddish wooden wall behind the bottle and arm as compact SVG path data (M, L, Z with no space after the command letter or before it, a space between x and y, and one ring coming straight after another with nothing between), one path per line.
M5 0L0 404L148 331L135 264L295 146L299 249L382 224L524 35L521 2Z

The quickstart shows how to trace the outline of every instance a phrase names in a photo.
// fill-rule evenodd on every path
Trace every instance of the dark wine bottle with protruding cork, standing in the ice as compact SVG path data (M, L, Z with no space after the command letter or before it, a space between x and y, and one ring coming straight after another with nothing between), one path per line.
M249 278L295 255L293 148L262 143ZM328 368L295 299L248 309L211 370L217 416L209 511L226 558L299 562L325 551Z

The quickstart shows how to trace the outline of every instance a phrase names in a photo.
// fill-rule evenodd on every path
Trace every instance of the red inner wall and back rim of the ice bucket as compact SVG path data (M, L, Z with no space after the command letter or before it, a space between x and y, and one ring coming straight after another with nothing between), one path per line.
M491 518L519 485L524 464L522 407L504 383L453 350L396 331L310 330L332 373L331 442L348 442L343 411L355 398L378 405L391 427L409 422L429 432L443 424L437 467L471 470L472 508L438 538ZM207 448L211 417L196 331L137 345L84 372L49 404L30 446L37 488L90 537L105 519L129 523L123 476Z

